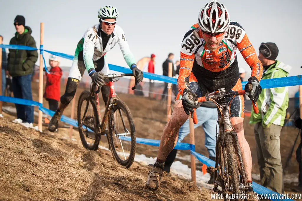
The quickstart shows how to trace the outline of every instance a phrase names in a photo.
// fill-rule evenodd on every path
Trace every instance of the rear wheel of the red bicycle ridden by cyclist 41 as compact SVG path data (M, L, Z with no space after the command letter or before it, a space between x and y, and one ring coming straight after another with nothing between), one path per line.
M78 129L83 146L96 151L101 135L98 134L98 112L95 102L89 99L90 92L83 91L78 101Z

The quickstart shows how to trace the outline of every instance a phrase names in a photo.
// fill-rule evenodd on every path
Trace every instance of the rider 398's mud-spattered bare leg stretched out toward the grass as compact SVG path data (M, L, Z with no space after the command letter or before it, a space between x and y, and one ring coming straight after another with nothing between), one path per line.
M182 101L176 100L171 118L162 131L157 154L158 159L165 161L168 157L177 143L179 129L187 119L188 115L184 111Z

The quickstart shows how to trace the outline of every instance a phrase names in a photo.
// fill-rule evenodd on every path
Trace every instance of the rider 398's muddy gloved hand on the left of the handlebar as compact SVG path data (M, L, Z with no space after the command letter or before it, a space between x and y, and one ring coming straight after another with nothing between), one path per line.
M198 97L195 93L192 93L189 89L184 89L182 93L182 105L184 106L184 111L187 115L193 114L194 109L198 105Z

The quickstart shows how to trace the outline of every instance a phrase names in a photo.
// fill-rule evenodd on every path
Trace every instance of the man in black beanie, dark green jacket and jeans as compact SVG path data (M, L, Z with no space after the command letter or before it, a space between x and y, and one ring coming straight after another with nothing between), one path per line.
M9 42L10 45L22 45L36 47L36 42L31 36L31 28L25 26L25 18L17 15L14 20L16 28L15 36ZM9 49L8 73L12 77L12 88L15 98L32 100L31 76L34 64L38 60L37 50ZM34 107L15 104L17 109L17 119L13 122L22 123L26 127L32 127L34 122Z

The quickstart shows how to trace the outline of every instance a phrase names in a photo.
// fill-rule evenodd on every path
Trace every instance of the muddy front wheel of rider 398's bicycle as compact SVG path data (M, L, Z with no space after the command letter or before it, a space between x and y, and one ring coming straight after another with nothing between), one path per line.
M226 143L226 155L228 162L228 170L229 170L229 179L232 184L232 192L236 195L240 194L240 182L239 182L239 169L237 165L236 152L233 145L233 138L230 134L226 134L225 136ZM241 199L234 199L241 200Z

